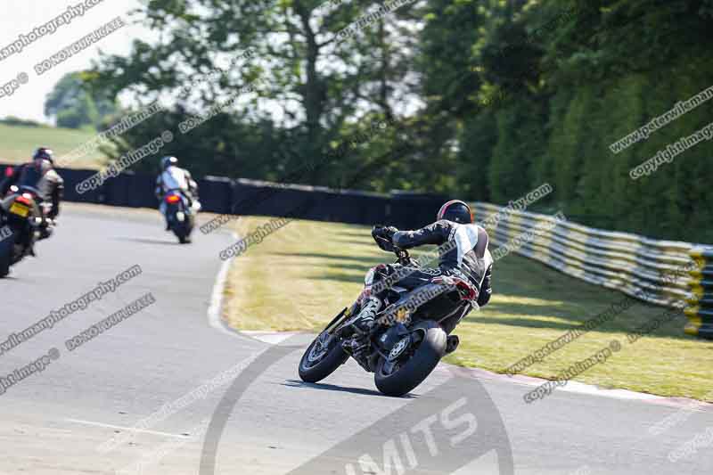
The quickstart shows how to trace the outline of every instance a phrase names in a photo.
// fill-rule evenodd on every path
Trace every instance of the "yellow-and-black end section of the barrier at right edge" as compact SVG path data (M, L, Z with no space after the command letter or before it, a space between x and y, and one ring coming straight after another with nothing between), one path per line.
M685 309L688 324L685 332L713 339L713 250L695 248L691 258L697 266L691 271L691 296Z

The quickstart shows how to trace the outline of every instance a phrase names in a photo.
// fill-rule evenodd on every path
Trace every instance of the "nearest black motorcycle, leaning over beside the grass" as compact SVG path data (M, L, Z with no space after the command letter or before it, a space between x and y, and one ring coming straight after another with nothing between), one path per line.
M396 265L419 267L407 250L393 250ZM355 325L362 304L370 298L374 283L379 282L377 276L386 278L388 274L389 266L371 269L354 305L336 315L307 347L299 361L302 381L321 381L352 356L365 371L374 373L374 383L381 393L403 396L425 381L443 356L455 351L459 340L450 332L472 308L478 307L478 292L471 283L452 276L436 277L414 291L398 286L381 291L380 297L385 293L384 306L368 334ZM406 306L409 299L426 292L433 297L418 307ZM356 333L368 337L368 348L359 352L358 359L348 344Z

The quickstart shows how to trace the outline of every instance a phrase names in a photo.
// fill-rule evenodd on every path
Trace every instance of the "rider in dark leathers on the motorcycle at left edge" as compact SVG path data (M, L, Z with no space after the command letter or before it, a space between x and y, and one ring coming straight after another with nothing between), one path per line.
M35 151L31 162L12 170L8 168L6 173L7 176L0 184L0 196L5 196L13 184L35 188L42 211L39 239L50 237L60 214L60 201L64 193L64 180L54 169L52 150L40 147Z

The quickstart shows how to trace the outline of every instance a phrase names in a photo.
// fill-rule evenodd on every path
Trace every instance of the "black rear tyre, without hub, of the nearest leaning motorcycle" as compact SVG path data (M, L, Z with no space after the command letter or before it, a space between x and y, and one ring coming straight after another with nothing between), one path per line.
M384 372L386 360L379 358L373 380L376 387L387 396L404 396L421 384L436 368L440 358L446 354L447 335L438 323L427 321L419 324L425 337L416 348L415 354L394 373Z

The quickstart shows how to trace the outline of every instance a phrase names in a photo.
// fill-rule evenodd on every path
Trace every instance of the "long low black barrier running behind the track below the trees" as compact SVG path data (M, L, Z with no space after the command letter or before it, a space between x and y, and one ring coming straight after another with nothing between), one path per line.
M0 164L0 178L10 165ZM110 177L95 189L78 192L77 185L97 170L57 168L64 179L64 200L128 208L159 206L156 176L133 171ZM417 229L428 225L447 197L412 192L360 192L322 186L276 184L223 176L198 180L202 210L241 216L293 217L352 225L396 225Z

